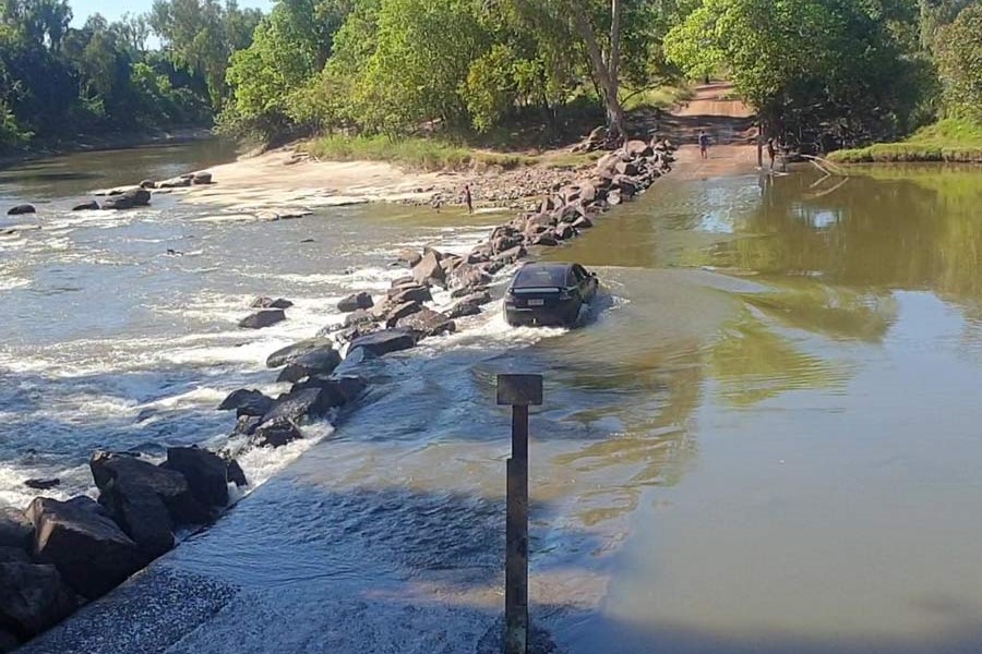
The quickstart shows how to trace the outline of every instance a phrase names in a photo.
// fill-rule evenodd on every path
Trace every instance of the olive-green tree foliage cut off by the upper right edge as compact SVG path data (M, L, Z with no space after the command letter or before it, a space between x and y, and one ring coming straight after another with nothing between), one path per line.
M982 122L982 3L941 29L936 51L946 111Z

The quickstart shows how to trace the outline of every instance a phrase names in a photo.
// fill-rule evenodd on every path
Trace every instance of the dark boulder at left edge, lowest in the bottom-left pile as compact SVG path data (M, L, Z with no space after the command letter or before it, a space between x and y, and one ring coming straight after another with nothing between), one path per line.
M55 566L0 564L0 625L27 640L75 609L72 592Z

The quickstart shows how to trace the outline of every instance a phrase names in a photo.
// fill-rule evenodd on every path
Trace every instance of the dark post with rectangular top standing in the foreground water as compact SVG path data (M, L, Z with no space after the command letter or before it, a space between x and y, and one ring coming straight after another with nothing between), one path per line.
M499 375L498 403L512 405L505 520L505 654L528 651L528 407L542 403L541 375Z

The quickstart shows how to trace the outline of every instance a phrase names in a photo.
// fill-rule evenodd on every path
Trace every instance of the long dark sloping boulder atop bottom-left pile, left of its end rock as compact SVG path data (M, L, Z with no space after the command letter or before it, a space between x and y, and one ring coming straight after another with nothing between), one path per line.
M123 492L134 486L149 488L160 498L178 524L201 524L211 519L207 508L197 502L191 494L188 480L179 472L166 470L131 455L106 451L94 452L88 467L99 491L105 492L111 485L121 487Z

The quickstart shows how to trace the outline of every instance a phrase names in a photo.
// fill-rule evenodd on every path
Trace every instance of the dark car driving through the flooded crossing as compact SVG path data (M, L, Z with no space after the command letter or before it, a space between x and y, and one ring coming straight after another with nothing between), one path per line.
M597 287L597 276L579 264L526 264L505 294L505 320L516 327L571 327Z

